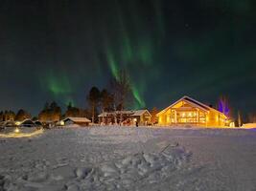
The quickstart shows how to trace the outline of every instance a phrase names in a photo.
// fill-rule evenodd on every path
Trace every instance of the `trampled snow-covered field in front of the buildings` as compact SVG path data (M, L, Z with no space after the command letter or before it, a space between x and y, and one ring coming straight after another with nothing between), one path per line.
M0 191L256 190L256 130L93 127L0 138Z

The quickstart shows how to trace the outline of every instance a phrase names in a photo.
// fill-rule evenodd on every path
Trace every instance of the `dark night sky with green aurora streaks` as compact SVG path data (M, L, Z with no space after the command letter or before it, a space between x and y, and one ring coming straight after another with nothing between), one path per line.
M227 96L256 113L253 0L0 0L0 110L84 108L125 69L133 108Z

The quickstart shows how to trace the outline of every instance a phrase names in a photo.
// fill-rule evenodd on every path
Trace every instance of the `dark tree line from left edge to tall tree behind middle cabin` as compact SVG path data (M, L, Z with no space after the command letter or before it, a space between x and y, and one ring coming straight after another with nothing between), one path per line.
M40 121L58 121L63 117L87 117L91 121L97 122L98 115L103 112L121 111L127 109L129 103L132 103L131 86L126 71L120 71L118 77L111 78L108 82L108 88L100 90L93 86L85 97L88 108L82 109L72 105L70 102L62 114L60 106L56 101L46 102L34 120ZM15 114L12 111L0 112L0 121L6 120L24 120L32 116L21 109Z

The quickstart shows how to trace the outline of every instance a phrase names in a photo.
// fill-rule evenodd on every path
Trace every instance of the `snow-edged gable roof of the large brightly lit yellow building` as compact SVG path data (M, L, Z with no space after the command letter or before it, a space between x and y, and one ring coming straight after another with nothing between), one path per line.
M168 106L167 108L165 108L164 110L162 110L161 112L159 112L159 113L157 114L157 116L160 115L161 113L167 111L168 109L174 107L175 104L177 104L178 102L180 102L180 101L182 101L182 100L185 100L186 102L188 102L188 103L190 103L190 104L192 104L192 105L194 105L194 106L200 108L201 110L203 110L203 111L205 111L205 112L209 112L210 110L213 110L213 111L218 112L218 113L220 113L221 115L225 116L225 115L224 115L223 113L221 113L220 111L218 111L218 110L216 110L216 109L214 109L214 108L212 108L212 107L209 107L208 105L205 105L205 104L203 104L203 103L197 101L196 99L191 98L190 96L182 96L180 99L178 99L177 101L175 101L175 103L173 103L172 105Z

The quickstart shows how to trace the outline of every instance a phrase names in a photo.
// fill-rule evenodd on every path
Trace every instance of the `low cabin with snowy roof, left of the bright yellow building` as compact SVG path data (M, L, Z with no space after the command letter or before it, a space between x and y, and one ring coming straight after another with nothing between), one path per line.
M151 124L151 113L148 110L104 112L99 117L99 123L103 125L149 125Z

